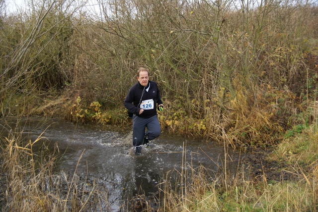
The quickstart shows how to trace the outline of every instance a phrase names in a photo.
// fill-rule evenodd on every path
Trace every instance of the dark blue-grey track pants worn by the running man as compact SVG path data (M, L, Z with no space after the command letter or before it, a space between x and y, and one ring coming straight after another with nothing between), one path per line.
M150 118L133 116L133 145L134 147L143 144L145 129L148 129L148 139L153 140L160 135L160 124L157 115Z

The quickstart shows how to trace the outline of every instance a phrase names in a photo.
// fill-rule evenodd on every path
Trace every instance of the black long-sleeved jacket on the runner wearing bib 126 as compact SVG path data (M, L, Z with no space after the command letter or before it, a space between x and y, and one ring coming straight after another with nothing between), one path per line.
M148 87L149 90L147 91ZM145 100L150 100L151 104L142 104ZM134 113L141 118L150 118L157 115L157 104L161 105L162 101L155 81L149 81L146 87L137 82L129 89L124 100L124 106L128 109L128 112ZM145 110L142 114L139 114L141 107L145 107ZM147 107L152 109L147 109Z

